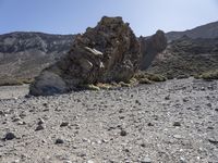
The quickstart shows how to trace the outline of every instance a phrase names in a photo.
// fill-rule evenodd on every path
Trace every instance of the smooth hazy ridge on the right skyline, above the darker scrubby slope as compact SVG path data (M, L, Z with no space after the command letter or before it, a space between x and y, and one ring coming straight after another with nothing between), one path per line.
M202 25L185 32L170 32L166 34L168 40L175 40L183 36L187 36L190 38L217 38L218 22Z

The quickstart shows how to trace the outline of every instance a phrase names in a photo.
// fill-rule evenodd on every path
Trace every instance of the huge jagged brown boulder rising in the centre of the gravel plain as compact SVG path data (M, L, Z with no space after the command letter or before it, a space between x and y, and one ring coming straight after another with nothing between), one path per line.
M83 84L126 82L138 68L141 48L122 17L102 17L94 28L77 35L68 55L44 70L29 93L50 96Z

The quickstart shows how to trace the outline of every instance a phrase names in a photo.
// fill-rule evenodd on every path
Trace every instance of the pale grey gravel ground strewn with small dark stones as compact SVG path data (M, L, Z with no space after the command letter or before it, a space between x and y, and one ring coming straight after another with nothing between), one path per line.
M218 163L218 82L25 98L0 87L1 163Z

